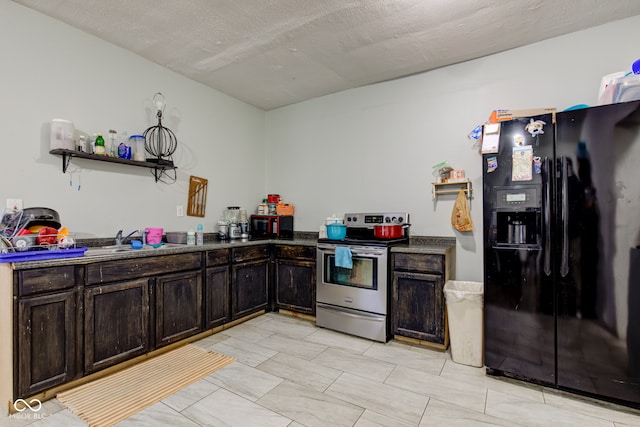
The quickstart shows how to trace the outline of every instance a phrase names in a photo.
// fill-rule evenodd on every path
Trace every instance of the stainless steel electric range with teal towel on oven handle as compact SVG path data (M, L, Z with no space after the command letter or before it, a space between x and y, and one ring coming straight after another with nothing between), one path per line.
M378 239L375 225L408 224L406 212L348 213L344 240L319 239L316 325L386 342L390 336L389 248L409 241Z

